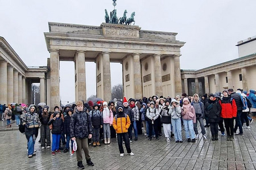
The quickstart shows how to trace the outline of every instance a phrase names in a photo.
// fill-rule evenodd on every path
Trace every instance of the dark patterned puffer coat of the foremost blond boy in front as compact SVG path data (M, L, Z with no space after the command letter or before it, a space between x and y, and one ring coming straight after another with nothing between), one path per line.
M89 134L93 134L92 120L85 108L83 111L78 111L72 114L70 122L70 137L79 139L88 138Z

